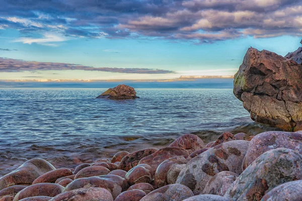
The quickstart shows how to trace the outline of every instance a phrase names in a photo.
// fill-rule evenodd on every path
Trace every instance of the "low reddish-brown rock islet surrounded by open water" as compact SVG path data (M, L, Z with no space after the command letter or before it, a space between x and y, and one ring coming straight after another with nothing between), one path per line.
M114 88L109 88L107 91L105 91L104 93L102 93L96 98L124 100L124 99L135 99L139 97L136 96L136 91L134 90L133 87L125 84L119 84Z

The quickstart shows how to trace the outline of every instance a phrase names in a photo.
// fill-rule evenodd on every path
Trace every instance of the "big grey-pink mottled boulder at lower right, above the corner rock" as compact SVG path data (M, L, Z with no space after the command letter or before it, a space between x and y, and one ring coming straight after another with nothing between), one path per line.
M232 200L260 200L274 187L302 179L302 155L286 148L263 153L251 163L226 191Z

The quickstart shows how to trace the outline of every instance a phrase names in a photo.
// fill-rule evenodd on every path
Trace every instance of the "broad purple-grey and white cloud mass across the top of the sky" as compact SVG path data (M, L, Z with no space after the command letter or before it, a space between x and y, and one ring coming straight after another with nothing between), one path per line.
M18 41L52 46L70 37L200 44L246 36L300 36L302 0L3 1L0 29L41 34Z

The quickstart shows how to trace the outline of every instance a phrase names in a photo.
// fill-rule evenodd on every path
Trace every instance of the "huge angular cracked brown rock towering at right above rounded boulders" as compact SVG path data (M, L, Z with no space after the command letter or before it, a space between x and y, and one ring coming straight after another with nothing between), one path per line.
M252 120L286 131L302 129L302 66L293 60L249 48L233 92Z

